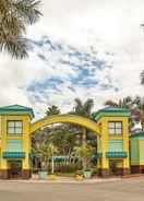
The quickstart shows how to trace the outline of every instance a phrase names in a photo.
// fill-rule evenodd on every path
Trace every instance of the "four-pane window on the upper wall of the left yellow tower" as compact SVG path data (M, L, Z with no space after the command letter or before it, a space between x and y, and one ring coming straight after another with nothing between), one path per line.
M22 134L23 122L22 121L8 121L9 134Z

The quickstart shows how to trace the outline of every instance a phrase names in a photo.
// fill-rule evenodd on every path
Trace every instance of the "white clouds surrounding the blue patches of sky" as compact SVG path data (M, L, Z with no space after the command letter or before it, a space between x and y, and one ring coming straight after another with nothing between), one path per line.
M144 88L140 85L140 72L144 69L144 32L140 27L144 22L143 8L142 0L43 0L44 16L36 25L28 27L28 37L39 39L48 35L80 49L87 49L87 46L93 45L101 52L99 58L113 67L97 71L95 79L99 78L101 83L107 83L108 76L120 91L104 92L98 87L86 90L85 86L73 86L75 91L72 92L69 88L72 87L69 76L74 75L76 71L67 66L55 66L57 58L53 55L49 64L41 62L34 54L24 61L13 61L10 57L1 55L0 105L17 103L44 111L46 105L32 104L25 88L34 81L41 82L56 74L64 80L64 84L59 86L62 88L61 93L52 94L53 91L50 90L45 93L49 94L49 104L62 106L63 111L72 107L70 103L77 96L94 97L96 107L99 107L107 98L143 95ZM107 57L105 51L112 52L113 56ZM46 50L38 49L38 52L47 57ZM52 64L53 69L49 68ZM46 100L47 96L43 96Z

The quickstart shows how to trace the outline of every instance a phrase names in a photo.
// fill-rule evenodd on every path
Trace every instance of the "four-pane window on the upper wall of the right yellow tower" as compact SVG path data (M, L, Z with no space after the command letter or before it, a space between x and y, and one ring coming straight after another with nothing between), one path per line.
M122 134L122 122L110 121L108 122L109 134Z

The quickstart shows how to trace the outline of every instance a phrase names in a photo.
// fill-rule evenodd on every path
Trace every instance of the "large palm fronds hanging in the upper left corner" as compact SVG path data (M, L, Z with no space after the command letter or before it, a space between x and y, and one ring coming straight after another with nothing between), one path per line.
M28 56L26 26L41 15L37 0L0 0L0 51L7 51L16 59Z

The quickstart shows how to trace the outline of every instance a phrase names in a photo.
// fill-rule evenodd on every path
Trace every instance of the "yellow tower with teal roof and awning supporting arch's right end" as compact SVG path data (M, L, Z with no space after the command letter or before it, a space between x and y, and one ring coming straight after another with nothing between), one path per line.
M100 128L98 137L98 172L101 176L130 173L129 116L123 108L106 107L93 115Z

